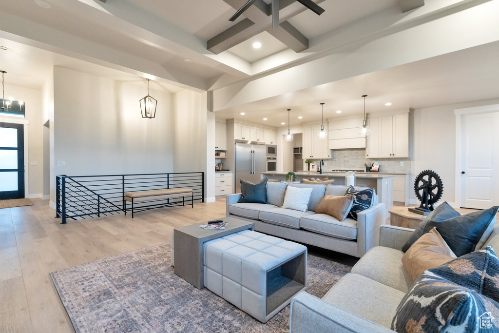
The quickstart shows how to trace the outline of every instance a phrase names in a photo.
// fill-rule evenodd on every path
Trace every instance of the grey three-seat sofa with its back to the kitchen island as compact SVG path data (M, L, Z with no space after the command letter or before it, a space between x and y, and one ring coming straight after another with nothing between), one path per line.
M308 211L281 208L287 186L312 188ZM373 205L360 212L357 221L347 218L339 222L332 216L315 214L315 209L324 195L343 196L347 189L347 186L339 185L268 182L268 204L238 203L241 194L228 195L227 216L235 215L254 222L255 231L267 235L360 258L377 245L379 228L385 224L385 204L378 203L376 195Z

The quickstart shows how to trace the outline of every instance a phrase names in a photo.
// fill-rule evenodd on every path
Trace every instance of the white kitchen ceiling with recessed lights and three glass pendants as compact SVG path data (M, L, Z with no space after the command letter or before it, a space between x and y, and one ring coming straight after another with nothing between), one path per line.
M364 94L367 113L499 98L498 54L499 42L485 44L217 111L216 118L281 126L290 108L292 126L320 121L320 102L324 118L361 116Z

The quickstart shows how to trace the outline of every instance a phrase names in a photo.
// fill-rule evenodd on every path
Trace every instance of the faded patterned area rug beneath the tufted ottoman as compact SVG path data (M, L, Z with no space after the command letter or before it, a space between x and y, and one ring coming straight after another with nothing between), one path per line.
M351 267L308 256L307 292L322 297ZM266 324L173 272L170 243L50 273L77 333L289 332L289 306Z

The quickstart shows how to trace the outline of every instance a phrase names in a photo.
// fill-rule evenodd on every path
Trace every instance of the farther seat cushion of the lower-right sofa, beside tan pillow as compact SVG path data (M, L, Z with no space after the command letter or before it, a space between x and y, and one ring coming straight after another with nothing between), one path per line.
M352 272L407 293L413 283L402 265L400 250L377 246L369 250L352 268Z

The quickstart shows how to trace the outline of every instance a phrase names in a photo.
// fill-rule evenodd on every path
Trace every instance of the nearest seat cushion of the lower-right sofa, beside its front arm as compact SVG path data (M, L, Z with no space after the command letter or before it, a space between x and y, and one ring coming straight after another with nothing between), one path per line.
M389 328L404 296L397 289L349 273L322 300Z

